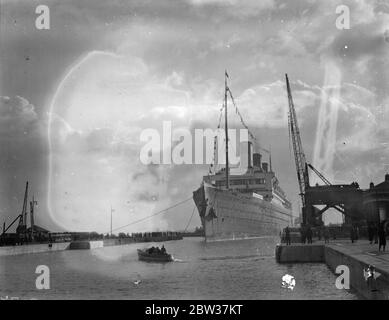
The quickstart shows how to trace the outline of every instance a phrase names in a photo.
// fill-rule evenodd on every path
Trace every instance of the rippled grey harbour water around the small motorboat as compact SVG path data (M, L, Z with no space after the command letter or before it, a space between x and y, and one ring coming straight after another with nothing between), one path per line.
M36 299L356 299L335 287L324 264L280 265L276 239L165 243L175 261L138 261L155 243L2 257L0 296ZM37 290L35 269L50 268L50 290ZM282 276L296 279L282 288Z

